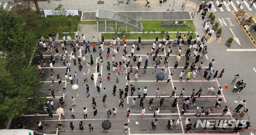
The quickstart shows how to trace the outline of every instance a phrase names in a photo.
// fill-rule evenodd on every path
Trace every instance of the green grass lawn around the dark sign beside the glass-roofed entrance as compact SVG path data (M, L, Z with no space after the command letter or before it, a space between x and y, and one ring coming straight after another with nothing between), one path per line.
M143 24L143 29L145 29L147 31L147 29L150 29L150 31L152 31L152 29L155 29L155 31L162 31L162 30L165 30L167 31L168 27L163 27L161 26L162 22L161 20L156 20L156 21L139 21ZM188 31L189 30L189 27L190 27L190 24L191 24L191 20L187 21L187 26L182 26L179 28L179 26L172 26L172 27L169 27L169 31ZM182 24L181 24L182 25ZM190 31L196 31L196 28L194 26L194 23L192 23L192 26L191 26L191 29Z

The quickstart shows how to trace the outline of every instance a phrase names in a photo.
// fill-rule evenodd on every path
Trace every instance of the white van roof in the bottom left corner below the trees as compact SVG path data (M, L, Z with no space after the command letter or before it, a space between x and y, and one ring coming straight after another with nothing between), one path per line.
M47 135L29 129L1 129L0 135Z

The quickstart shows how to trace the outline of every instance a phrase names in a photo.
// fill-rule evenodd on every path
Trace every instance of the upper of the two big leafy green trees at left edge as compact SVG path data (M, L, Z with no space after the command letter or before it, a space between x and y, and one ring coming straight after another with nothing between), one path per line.
M0 9L0 50L24 54L25 60L34 55L38 38L33 32L26 30L26 22L15 12Z

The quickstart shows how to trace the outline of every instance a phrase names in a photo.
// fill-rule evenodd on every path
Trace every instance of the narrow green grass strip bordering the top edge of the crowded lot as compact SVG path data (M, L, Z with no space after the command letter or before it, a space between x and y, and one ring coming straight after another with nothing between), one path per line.
M170 36L170 39L174 39L176 37L176 33L168 33ZM120 33L102 33L101 36L104 36L105 39L112 39L112 36L115 35L115 37L117 37L117 35L121 35ZM181 33L181 35L187 35L187 33ZM191 35L191 33L190 33ZM189 36L190 36L189 35ZM159 39L161 39L161 37L166 37L165 34L161 34L161 33L127 33L125 34L126 39L138 39L138 37L141 37L141 39L155 39L156 37L158 37ZM120 36L121 37L121 36ZM186 36L188 38L188 36ZM192 38L196 38L196 34L193 33L192 34Z

